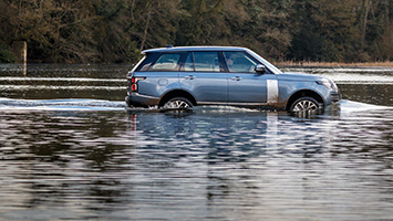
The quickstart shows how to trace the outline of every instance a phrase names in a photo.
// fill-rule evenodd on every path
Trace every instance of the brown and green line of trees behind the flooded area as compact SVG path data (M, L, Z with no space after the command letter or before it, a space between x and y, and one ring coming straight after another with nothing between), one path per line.
M0 0L12 43L45 63L133 63L144 49L238 45L272 61L393 60L393 0Z

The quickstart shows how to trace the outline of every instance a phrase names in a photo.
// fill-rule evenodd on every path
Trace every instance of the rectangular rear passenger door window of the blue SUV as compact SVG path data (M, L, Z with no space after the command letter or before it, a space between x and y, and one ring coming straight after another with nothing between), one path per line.
M197 72L220 72L218 52L194 52L194 65Z

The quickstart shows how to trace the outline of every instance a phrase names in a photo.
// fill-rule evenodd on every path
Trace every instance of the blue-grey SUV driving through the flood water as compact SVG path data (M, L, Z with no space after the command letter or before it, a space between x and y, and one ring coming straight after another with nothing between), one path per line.
M167 46L142 53L127 74L130 107L234 105L302 112L340 99L331 80L282 73L245 48Z

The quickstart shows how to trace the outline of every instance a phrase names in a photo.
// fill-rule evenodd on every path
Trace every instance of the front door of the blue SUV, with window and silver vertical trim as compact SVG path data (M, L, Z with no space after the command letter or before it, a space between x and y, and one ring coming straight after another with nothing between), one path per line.
M259 62L246 52L223 52L228 69L229 105L267 105L277 102L278 83L275 74L257 73Z

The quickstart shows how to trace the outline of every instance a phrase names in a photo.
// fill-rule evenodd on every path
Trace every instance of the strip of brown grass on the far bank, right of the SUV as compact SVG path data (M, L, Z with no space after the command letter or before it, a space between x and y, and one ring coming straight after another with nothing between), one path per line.
M327 66L327 67L342 67L342 66L383 66L383 67L393 67L393 62L364 62L364 63L340 63L340 62L276 62L277 66Z

